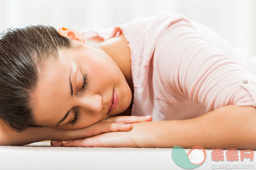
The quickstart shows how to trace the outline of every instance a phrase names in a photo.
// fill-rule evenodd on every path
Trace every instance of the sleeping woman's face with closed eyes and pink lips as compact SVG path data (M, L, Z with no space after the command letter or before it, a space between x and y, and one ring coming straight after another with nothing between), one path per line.
M116 63L99 49L87 45L83 47L79 50L60 50L56 60L46 62L31 101L37 125L78 129L119 114L129 107L132 92ZM88 75L84 91L83 74ZM108 113L113 88L118 104ZM68 111L66 119L56 127ZM71 122L75 111L78 112L78 120L73 126Z

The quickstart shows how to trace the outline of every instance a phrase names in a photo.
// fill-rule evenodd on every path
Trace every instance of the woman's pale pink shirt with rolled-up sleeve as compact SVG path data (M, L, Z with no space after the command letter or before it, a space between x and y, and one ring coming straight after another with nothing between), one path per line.
M255 58L206 26L161 13L116 27L131 49L132 115L179 120L225 105L256 106ZM112 30L87 28L82 35L107 39Z

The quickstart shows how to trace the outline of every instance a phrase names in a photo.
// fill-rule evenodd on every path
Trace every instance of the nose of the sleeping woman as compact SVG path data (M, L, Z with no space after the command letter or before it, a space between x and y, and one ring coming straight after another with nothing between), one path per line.
M81 111L98 113L102 110L102 98L99 94L87 95L80 98Z

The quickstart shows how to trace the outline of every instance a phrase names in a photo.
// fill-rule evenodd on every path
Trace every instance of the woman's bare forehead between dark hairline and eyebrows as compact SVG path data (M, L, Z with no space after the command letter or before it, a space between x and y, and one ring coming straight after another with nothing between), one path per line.
M66 113L70 100L69 75L72 60L60 53L56 60L45 62L44 71L38 78L31 106L36 124L52 125ZM66 107L65 104L66 104Z

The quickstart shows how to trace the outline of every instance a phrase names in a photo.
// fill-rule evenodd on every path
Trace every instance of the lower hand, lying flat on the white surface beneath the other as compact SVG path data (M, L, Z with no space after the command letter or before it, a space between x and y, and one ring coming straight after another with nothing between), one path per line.
M150 146L150 137L143 130L150 127L153 122L133 123L133 129L129 131L114 131L96 136L67 140L54 143L52 146L67 147L144 147Z

